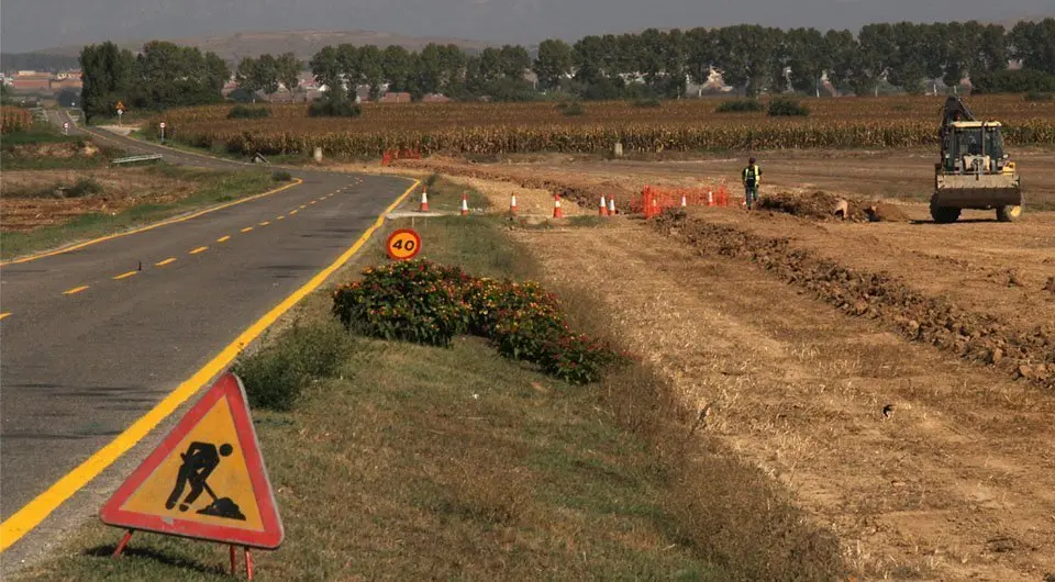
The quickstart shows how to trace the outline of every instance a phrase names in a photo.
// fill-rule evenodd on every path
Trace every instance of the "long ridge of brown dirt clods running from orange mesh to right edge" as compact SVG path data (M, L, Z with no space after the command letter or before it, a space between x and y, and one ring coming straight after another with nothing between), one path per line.
M1021 329L930 296L886 273L844 267L787 238L771 238L684 214L660 215L655 227L708 253L749 260L849 315L890 324L912 340L964 359L997 366L1015 378L1055 389L1055 325Z

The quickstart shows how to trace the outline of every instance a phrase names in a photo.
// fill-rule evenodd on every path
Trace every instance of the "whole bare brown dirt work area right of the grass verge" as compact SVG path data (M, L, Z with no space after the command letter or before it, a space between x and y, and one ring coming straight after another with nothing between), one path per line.
M924 191L933 164L770 158L775 189L868 198ZM1055 202L1055 154L1019 159L1031 199ZM507 180L540 203L538 186L588 200L735 176L742 161L429 164L475 177L501 209ZM920 202L898 208L925 219ZM596 290L630 347L710 404L708 429L791 486L863 578L1043 580L1055 573L1055 213L965 217L984 220L697 209L517 236L551 279Z

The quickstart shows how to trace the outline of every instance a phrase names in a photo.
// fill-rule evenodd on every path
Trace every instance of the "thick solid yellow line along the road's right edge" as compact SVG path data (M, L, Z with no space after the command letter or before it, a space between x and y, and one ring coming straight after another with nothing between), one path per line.
M319 286L325 282L337 269L340 269L345 262L348 261L356 253L363 248L363 245L377 232L378 228L385 224L385 216L388 213L396 210L399 204L407 199L410 193L418 188L420 180L414 180L414 183L410 186L388 209L382 212L377 220L374 222L374 225L366 230L363 233L363 236L355 242L354 245L343 255L337 257L337 260L333 261L329 267L319 271L318 275L312 277L310 281L304 283L303 287L293 291L291 295L286 298L281 303L267 312L266 315L260 317L256 323L249 326L246 331L242 332L234 342L229 344L223 348L220 354L218 354L209 363L203 368L195 372L188 380L179 384L175 391L168 394L162 402L154 406L149 412L141 416L132 426L126 428L123 433L118 435L113 440L111 440L107 446L96 451L95 455L88 458L85 462L80 463L76 469L63 475L62 479L56 481L52 486L47 489L44 493L37 495L33 501L25 504L21 510L18 511L11 517L8 517L3 524L0 524L0 552L4 551L12 544L22 538L25 534L30 533L34 527L41 524L52 512L58 508L66 500L68 500L74 493L80 491L89 481L96 478L100 472L103 471L107 467L118 460L119 457L124 455L129 449L135 446L140 440L146 437L151 430L154 429L162 421L168 417L168 415L176 412L184 402L186 402L190 396L195 395L201 387L206 385L207 382L212 380L216 374L219 374L223 369L237 357L238 352L253 342L257 336L264 333L273 323L275 323L284 313L289 311L293 305L300 302L308 293L314 291Z

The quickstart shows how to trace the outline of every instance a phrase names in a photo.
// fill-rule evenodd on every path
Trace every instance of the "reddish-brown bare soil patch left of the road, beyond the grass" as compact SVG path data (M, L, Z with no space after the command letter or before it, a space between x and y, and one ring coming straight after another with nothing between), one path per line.
M79 179L102 186L98 194L65 198L56 187L69 187ZM25 170L0 175L2 232L27 232L64 224L91 212L118 214L144 203L164 204L187 198L197 184L151 172L145 168L99 170ZM26 195L30 194L30 195Z

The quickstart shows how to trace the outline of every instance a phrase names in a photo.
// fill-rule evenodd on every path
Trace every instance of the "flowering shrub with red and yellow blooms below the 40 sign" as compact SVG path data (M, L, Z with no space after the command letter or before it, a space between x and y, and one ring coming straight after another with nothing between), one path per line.
M574 334L556 298L534 282L470 278L420 260L370 267L363 275L334 291L333 312L364 335L445 346L469 333L489 339L507 358L577 384L599 380L623 359L607 344Z

